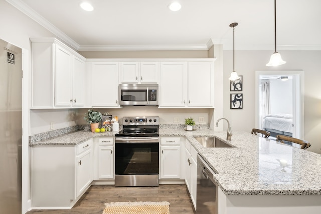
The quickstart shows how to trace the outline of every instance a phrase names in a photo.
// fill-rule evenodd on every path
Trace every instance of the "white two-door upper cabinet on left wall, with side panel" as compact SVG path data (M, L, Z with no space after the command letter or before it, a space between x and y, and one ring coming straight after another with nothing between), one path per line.
M31 41L31 108L84 106L85 58L55 38Z

